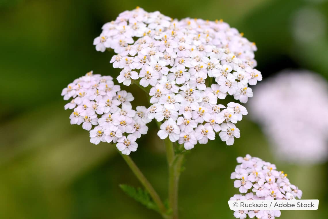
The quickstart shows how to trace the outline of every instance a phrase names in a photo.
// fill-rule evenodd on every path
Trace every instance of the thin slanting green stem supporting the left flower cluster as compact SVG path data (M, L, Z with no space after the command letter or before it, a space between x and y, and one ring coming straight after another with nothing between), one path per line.
M128 166L131 168L132 172L138 178L140 183L143 186L145 186L146 190L149 192L150 196L152 197L152 199L156 203L156 205L157 205L160 213L162 214L163 218L167 218L166 208L165 208L163 202L161 201L159 195L155 191L154 187L152 186L152 184L150 184L150 182L146 179L146 177L143 175L143 173L140 171L140 169L137 167L137 165L133 162L133 160L131 159L130 156L124 155L121 152L119 152L119 153L122 155L123 159L128 164Z

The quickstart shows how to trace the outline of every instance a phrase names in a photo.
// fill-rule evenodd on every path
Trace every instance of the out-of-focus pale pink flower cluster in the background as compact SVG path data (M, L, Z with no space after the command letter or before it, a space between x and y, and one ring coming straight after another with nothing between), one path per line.
M328 109L327 91L326 80L308 71L283 71L256 88L251 118L262 125L277 157L292 163L327 160L328 117L316 113Z

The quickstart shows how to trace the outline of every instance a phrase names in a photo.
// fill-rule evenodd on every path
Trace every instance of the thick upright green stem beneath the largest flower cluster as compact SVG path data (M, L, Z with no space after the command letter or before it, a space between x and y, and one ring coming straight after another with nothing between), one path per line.
M184 155L174 155L173 142L169 138L164 140L166 156L169 165L169 207L172 209L172 218L177 219L178 212L178 186L181 172L181 165Z

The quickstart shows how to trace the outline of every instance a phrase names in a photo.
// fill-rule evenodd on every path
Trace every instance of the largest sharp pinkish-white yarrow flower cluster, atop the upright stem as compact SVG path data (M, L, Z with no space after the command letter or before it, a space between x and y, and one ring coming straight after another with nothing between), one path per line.
M171 19L141 8L124 11L94 39L96 50L113 49L118 82L145 87L151 97L148 118L163 122L158 136L191 149L215 139L227 145L239 138L235 123L245 107L218 99L227 95L246 103L248 85L262 79L254 69L256 46L222 20ZM216 82L216 83L215 83ZM223 109L223 110L222 110Z

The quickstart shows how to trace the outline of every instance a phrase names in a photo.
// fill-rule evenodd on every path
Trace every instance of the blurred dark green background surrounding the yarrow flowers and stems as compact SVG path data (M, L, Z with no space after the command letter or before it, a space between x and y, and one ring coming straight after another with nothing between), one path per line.
M257 69L265 77L309 69L328 78L328 2L324 0L37 1L0 0L0 218L159 218L130 199L118 184L140 186L113 145L89 142L70 125L62 88L90 70L118 74L92 45L101 26L136 6L177 18L223 19L258 47ZM138 105L146 95L133 86ZM136 104L136 103L134 103ZM326 116L326 115L325 115ZM132 158L164 199L165 149L155 124ZM233 146L219 139L186 154L181 175L181 218L234 218L227 201L238 193L230 174L246 153L277 164L319 199L317 211L282 211L286 218L327 218L328 165L292 165L273 157L260 128L246 116Z

